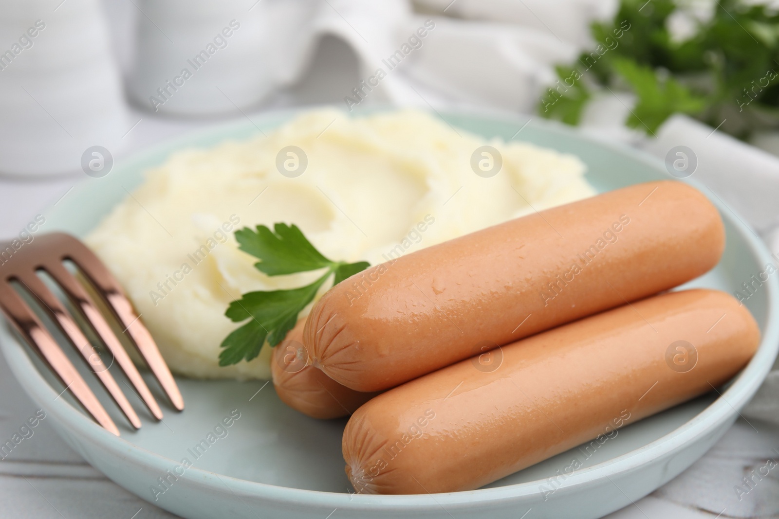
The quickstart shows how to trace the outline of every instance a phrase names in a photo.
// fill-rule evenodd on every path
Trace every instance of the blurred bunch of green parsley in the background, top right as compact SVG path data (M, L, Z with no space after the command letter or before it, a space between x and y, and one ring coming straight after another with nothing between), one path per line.
M696 17L689 4L622 0L611 22L592 25L594 49L557 68L541 115L578 124L594 93L628 89L636 104L626 124L649 134L675 113L740 139L779 128L779 12L719 0ZM679 20L693 26L683 40L668 28Z

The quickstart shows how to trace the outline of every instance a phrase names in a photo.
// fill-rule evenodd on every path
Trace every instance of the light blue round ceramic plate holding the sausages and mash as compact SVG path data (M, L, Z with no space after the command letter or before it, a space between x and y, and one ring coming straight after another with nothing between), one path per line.
M290 116L269 114L256 124L270 130ZM527 122L464 113L443 117L454 126L506 140ZM56 228L83 235L125 197L125 188L139 184L142 170L163 162L174 150L213 146L256 132L255 125L249 122L216 128L119 161L107 177L87 178L49 209L45 213L48 230ZM518 139L576 154L587 163L589 181L601 191L669 177L659 160L633 149L589 139L557 124L533 121ZM706 188L702 191L711 195ZM724 219L727 248L717 268L689 286L731 292L763 270L770 258L755 233L716 197L712 198ZM345 421L323 422L302 416L282 404L272 385L263 386L263 382L179 379L186 402L184 412L168 408L163 423L143 416L144 425L139 432L125 427L121 438L114 437L84 416L72 401L56 398L63 388L5 328L0 330L0 339L5 357L23 387L48 412L48 421L58 433L86 461L130 492L182 517L517 519L532 509L528 519L590 518L625 507L668 482L700 458L728 429L738 416L738 409L760 386L777 354L777 294L777 278L771 277L747 300L749 310L760 323L763 342L749 366L718 398L716 394L707 395L627 426L589 458L583 451L573 449L484 489L436 495L350 493L340 453ZM85 371L84 375L93 381L90 373ZM151 382L150 386L155 387ZM97 384L96 392L103 395ZM164 398L160 397L160 401L164 402ZM107 409L114 410L113 405L104 403ZM133 405L143 409L137 401ZM218 437L196 458L194 447L206 440L214 426L231 412L233 416L240 413L240 418L226 430L227 436L221 433L223 437ZM121 416L114 418L118 424L124 423ZM192 461L192 468L177 469L182 458ZM559 477L574 458L583 468ZM180 475L169 476L167 471ZM166 486L160 486L160 478L166 479Z

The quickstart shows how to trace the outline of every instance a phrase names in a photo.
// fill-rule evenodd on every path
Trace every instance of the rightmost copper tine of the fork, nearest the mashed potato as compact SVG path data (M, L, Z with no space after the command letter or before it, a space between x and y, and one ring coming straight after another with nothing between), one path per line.
M170 398L174 408L179 411L184 409L184 398L182 398L182 393L178 390L178 385L176 385L171 370L167 367L165 360L162 358L160 350L157 349L157 344L146 329L146 326L140 321L139 314L132 308L132 303L130 303L127 296L125 296L122 287L119 286L119 283L114 279L114 276L111 275L111 272L108 272L108 268L103 265L100 258L97 258L97 256L79 240L63 233L49 236L51 236L51 239L53 240L68 241L68 254L65 254L65 258L76 263L84 275L86 275L97 288L100 295L108 301L108 306L111 307L111 310L118 318L118 321L125 327L125 331L129 331L132 342L136 345L138 352L146 361L146 365L149 366L154 377L157 378L160 386L167 394L167 398ZM63 268L63 270L65 269Z

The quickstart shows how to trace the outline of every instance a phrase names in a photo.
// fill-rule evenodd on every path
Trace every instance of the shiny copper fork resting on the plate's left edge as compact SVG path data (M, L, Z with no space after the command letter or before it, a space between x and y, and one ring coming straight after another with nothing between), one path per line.
M124 328L122 333L129 335L129 342L136 346L174 408L179 411L184 409L184 400L171 375L171 370L165 364L154 339L141 322L140 316L133 309L122 288L97 256L69 234L44 234L35 237L28 244L21 244L18 249L10 243L0 243L0 310L5 317L8 317L16 331L19 331L33 350L41 356L44 363L48 364L65 386L65 390L71 392L86 412L105 429L119 436L119 430L108 416L108 412L100 405L97 397L76 370L76 366L73 366L41 320L16 291L12 282L17 282L19 286L24 287L30 296L40 303L39 306L90 364L93 372L129 423L136 429L140 428L141 421L138 415L132 409L132 405L119 388L115 378L111 376L108 367L100 359L100 353L86 338L83 330L79 328L58 297L38 277L37 272L44 271L54 279L82 317L86 317L86 322L90 323L97 336L114 356L116 363L122 368L132 387L135 388L134 391L149 408L151 414L157 419L162 419L162 410L149 387L146 386L146 382L85 287L68 268L65 268L63 264L65 260L72 261L78 267L79 272L89 280L104 303L107 303L105 306Z

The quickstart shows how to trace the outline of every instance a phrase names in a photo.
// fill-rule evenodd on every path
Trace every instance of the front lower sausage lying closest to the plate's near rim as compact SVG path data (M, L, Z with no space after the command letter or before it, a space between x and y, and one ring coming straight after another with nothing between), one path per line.
M347 423L346 472L361 493L477 489L712 391L759 341L746 307L714 290L608 310L377 396Z

